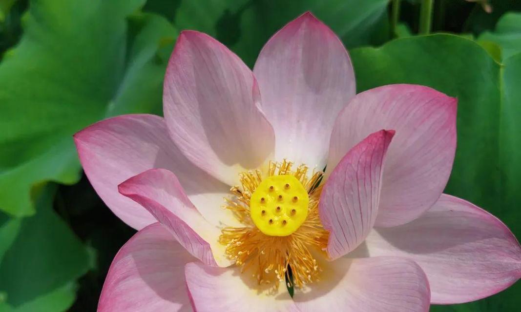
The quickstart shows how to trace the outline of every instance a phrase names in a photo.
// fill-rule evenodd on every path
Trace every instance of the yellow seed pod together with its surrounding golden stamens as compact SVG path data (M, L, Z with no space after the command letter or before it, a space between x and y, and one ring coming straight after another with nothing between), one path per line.
M290 271L297 288L318 281L315 257L325 256L327 245L328 232L318 216L322 172L292 167L284 160L271 162L267 173L241 173L241 185L230 189L225 208L244 226L224 228L219 237L241 272L274 289L286 283L286 275L291 281Z

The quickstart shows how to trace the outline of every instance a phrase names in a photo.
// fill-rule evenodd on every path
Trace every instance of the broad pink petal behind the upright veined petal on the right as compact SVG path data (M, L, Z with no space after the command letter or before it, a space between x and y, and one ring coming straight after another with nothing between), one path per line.
M358 94L338 116L328 170L357 142L395 129L383 172L377 226L417 218L440 197L456 150L456 99L428 87L388 85Z

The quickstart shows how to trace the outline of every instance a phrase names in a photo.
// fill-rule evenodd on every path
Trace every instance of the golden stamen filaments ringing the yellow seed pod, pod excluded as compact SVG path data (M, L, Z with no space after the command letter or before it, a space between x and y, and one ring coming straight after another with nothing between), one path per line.
M279 282L286 283L284 278L288 274L288 267L292 269L293 282L296 287L303 287L304 284L317 281L320 268L314 255L317 253L324 254L327 245L328 233L322 227L318 216L321 186L317 187L317 185L322 173L314 172L311 177L308 177L306 166L301 165L293 171L292 165L291 162L286 160L281 163L271 162L268 173L264 176L259 170L241 173L241 186L230 189L234 196L232 199L226 199L226 209L232 211L244 224L244 227L224 228L219 238L220 243L226 245L227 256L235 260L235 264L241 266L241 272L247 270L250 274L253 273L252 276L257 279L259 284L271 283L274 288L278 287ZM263 178L276 175L292 175L302 184L309 197L306 219L300 227L287 236L266 235L255 226L250 216L252 194L261 184ZM276 192L273 185L265 187L268 192ZM286 190L293 189L290 184L283 185L283 188ZM275 193L275 196L277 196L277 193ZM283 197L279 195L277 199L283 200ZM263 201L261 198L261 203L266 201L266 199ZM299 202L299 198L293 197L290 202L293 202L292 205L297 205L295 203ZM277 205L275 212L280 211L280 206ZM280 222L278 225L282 228L290 226L287 218L294 218L297 214L296 209L287 212L287 217L282 215L283 219L278 221ZM259 211L257 211L258 213ZM266 215L266 213L263 208L261 214ZM291 220L289 221L291 222ZM268 222L274 224L271 217Z

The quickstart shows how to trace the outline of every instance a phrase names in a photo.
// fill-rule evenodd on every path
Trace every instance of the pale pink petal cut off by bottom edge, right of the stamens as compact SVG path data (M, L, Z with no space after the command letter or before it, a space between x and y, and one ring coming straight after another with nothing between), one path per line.
M413 261L395 257L340 258L323 266L320 281L293 300L302 312L420 312L429 283Z

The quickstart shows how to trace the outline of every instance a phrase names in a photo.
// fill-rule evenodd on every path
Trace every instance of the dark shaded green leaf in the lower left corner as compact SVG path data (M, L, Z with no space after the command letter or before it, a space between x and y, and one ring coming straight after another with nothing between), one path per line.
M55 185L43 188L37 213L23 218L0 262L0 292L12 311L63 311L74 301L75 280L89 254L53 211Z

